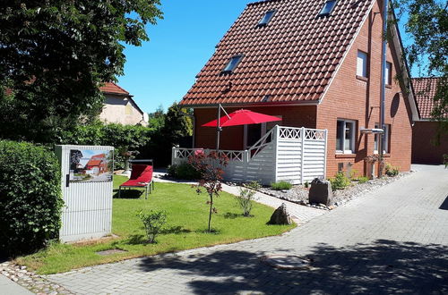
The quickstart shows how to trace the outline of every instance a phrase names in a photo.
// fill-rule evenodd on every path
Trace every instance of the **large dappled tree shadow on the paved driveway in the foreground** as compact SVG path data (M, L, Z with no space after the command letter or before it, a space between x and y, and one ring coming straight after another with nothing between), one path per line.
M276 253L280 251L277 249ZM448 250L443 245L393 240L346 248L319 244L306 256L313 261L311 269L289 271L264 265L260 261L263 255L218 250L187 259L146 257L139 267L145 272L174 269L178 274L189 275L192 281L188 283L196 294L448 293Z

